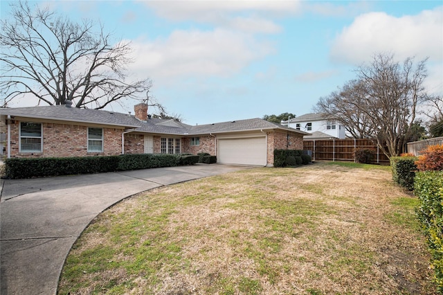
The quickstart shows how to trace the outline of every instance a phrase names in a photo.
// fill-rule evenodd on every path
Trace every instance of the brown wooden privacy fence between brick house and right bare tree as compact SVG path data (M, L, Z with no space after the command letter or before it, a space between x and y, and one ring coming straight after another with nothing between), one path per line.
M312 161L355 161L354 150L370 148L374 150L374 162L389 163L389 158L371 139L327 139L303 141L303 150L310 150Z

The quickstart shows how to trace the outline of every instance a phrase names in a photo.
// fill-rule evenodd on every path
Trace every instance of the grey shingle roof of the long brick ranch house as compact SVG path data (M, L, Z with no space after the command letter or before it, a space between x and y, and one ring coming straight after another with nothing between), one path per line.
M226 132L242 132L262 129L282 129L299 134L307 134L297 129L271 123L269 121L253 118L246 120L235 120L230 122L213 123L206 125L187 125L184 123L168 123L170 120L151 118L141 121L128 114L121 114L98 109L78 109L65 107L64 105L46 107L20 107L0 109L0 114L10 116L21 116L25 118L41 118L47 120L66 120L79 123L96 123L114 126L136 128L137 132L175 135L201 135L217 134Z

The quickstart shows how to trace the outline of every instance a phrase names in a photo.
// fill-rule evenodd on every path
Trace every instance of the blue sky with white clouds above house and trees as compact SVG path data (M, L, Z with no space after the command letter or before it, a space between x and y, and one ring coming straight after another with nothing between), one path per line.
M190 125L309 113L380 52L429 57L425 86L443 95L441 0L35 3L132 42L128 73L151 78L154 99ZM135 103L113 109L134 112Z

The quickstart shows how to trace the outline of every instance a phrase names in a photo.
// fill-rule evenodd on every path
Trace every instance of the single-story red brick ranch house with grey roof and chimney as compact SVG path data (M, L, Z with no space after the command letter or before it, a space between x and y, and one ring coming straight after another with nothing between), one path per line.
M0 109L6 157L84 157L207 152L217 163L273 166L275 149L302 150L306 132L260 118L186 125L151 118L144 103L135 116L70 104Z

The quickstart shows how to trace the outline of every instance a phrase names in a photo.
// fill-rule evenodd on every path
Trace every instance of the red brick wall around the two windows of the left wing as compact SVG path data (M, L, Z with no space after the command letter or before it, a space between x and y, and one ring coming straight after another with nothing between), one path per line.
M11 123L11 157L85 157L121 154L123 129L103 128L103 152L87 152L87 126L42 123L43 152L19 152L19 120Z

